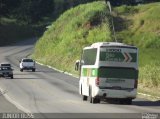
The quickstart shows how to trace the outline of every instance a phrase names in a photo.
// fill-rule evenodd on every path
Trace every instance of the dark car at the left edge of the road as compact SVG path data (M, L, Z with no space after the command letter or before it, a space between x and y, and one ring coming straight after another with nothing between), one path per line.
M1 63L0 64L0 77L10 77L13 79L13 69L11 68L11 64L9 63Z

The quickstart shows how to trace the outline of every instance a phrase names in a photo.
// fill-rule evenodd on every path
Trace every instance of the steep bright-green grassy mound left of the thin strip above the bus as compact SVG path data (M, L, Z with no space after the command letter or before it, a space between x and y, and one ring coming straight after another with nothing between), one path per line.
M68 10L37 42L34 57L40 62L73 73L74 62L80 59L83 47L93 42L111 41L107 11L104 2Z

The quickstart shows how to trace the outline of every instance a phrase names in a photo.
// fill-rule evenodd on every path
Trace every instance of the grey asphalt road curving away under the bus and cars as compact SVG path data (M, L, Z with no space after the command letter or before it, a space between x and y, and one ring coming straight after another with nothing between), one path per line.
M29 39L0 47L0 62L10 62L14 68L14 79L1 78L0 88L5 91L4 96L7 95L10 102L22 111L44 118L141 118L146 112L160 113L160 102L144 99L135 99L132 105L82 102L78 94L78 79L46 66L36 64L36 72L20 72L19 60L33 52L35 42L35 39ZM0 112L15 112L16 107L10 108L13 105L7 100L5 103L8 102L8 105L4 106L1 100L4 98L0 98ZM7 106L9 111L4 109Z

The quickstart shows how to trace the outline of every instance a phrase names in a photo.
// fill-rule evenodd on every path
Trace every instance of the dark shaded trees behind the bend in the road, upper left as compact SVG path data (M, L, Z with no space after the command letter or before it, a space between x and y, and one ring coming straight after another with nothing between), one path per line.
M0 46L39 37L62 12L94 0L1 0Z

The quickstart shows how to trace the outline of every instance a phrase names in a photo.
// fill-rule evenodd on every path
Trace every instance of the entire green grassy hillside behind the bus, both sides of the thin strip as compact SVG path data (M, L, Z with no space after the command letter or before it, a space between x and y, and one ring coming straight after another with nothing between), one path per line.
M119 42L139 47L139 90L160 95L160 3L114 8ZM37 42L33 57L58 69L74 72L81 49L112 41L108 10L103 2L72 8L54 22ZM150 90L152 89L152 90Z

